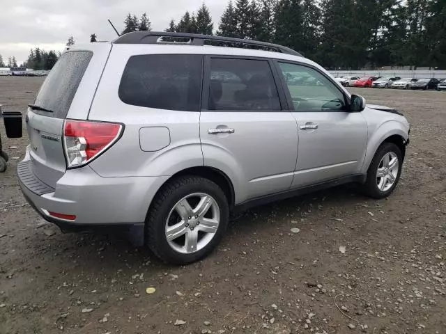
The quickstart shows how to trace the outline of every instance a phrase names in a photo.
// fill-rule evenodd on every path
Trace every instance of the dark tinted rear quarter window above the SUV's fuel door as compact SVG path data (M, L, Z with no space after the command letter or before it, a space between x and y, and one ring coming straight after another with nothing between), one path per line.
M151 54L130 57L119 98L125 104L178 111L199 111L203 56Z

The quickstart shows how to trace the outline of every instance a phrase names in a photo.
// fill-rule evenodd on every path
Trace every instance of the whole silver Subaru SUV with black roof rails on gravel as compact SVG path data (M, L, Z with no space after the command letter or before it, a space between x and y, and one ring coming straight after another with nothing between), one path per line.
M229 215L357 182L397 186L409 124L269 43L134 32L62 54L26 116L24 196L62 230L127 226L162 260L210 253Z

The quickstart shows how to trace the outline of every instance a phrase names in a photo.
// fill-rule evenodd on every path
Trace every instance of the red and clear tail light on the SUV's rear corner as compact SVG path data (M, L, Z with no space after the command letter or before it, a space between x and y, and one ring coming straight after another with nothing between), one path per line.
M68 168L84 166L98 157L118 141L122 129L117 123L66 120L63 145Z

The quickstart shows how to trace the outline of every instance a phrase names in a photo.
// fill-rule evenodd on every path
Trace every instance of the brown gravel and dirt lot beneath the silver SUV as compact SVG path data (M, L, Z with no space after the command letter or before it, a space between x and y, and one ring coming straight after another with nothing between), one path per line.
M42 81L0 78L0 104L24 111ZM27 138L0 125L0 333L446 333L446 93L354 92L411 122L395 193L344 186L252 209L188 267L41 225L15 176Z

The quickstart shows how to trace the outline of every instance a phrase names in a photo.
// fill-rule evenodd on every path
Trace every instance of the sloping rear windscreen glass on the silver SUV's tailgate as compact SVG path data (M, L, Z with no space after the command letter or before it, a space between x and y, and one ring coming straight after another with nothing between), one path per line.
M45 113L45 116L66 118L92 56L91 51L70 51L62 54L49 72L34 102L36 106L53 111L51 114Z

